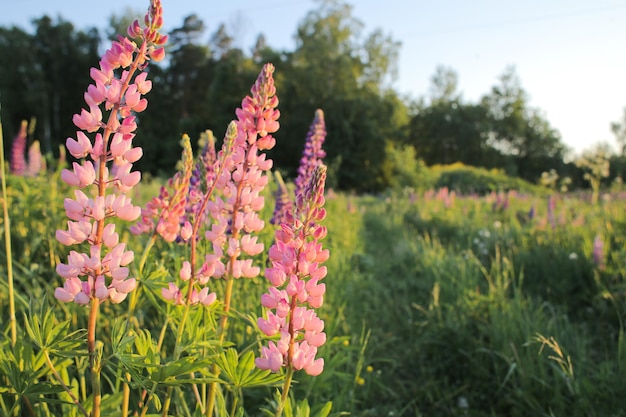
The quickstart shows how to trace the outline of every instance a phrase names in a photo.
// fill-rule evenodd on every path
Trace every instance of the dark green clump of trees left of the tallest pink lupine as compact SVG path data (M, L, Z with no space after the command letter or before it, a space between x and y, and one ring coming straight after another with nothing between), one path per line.
M11 65L0 69L0 93L9 131L36 117L35 137L49 153L76 133L72 115L85 106L100 37L94 28L76 31L61 18L43 16L33 26L33 34L15 27L0 30L0 54L11 57Z

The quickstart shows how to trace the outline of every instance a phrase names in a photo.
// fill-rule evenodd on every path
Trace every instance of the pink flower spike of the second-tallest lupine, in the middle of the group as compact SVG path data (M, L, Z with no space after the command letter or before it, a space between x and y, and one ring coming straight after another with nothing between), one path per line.
M253 233L264 227L258 214L265 204L260 193L268 182L264 172L272 167L272 160L260 151L274 147L276 140L271 134L279 127L273 73L274 66L266 64L251 95L236 110L237 121L229 126L214 169L220 195L207 204L213 223L206 238L213 253L206 256L203 269L223 271L227 278L254 278L260 273L252 259L239 258L242 254L258 255L264 249Z

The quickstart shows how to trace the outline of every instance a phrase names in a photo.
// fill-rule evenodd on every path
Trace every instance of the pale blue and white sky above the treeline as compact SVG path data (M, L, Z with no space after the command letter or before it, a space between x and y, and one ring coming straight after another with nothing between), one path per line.
M147 0L2 0L0 26L31 29L44 14L77 28L106 28L128 8L143 17ZM611 122L626 108L626 0L348 0L353 17L401 43L393 87L428 97L438 66L453 69L466 102L477 102L514 66L530 106L542 111L574 153L598 142L615 146ZM245 50L259 33L274 49L293 50L298 24L314 0L162 0L165 29L197 14L220 23ZM320 104L323 108L323 103Z

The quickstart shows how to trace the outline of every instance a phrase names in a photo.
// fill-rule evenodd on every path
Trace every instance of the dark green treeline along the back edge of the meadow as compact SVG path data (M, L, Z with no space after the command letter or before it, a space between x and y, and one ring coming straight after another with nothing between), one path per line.
M119 33L134 18L113 16L107 33ZM58 154L59 145L75 135L72 115L85 106L89 68L108 40L97 29L79 30L47 16L32 25L31 32L0 27L5 137L17 132L21 120L35 118L42 150ZM288 177L317 108L325 112L326 162L337 188L385 189L406 170L397 165L407 155L427 165L500 168L533 182L549 169L580 177L563 162L559 133L529 107L514 68L477 103L462 99L456 72L445 67L433 75L428 97L405 98L390 88L400 43L380 30L364 34L348 4L327 1L310 11L297 27L292 51L272 48L262 34L249 51L235 47L225 25L208 35L198 16L186 17L170 32L168 59L150 68L153 90L137 137L145 150L143 171L170 175L183 133L193 139L211 129L222 137L262 64L272 62L281 129L271 157Z

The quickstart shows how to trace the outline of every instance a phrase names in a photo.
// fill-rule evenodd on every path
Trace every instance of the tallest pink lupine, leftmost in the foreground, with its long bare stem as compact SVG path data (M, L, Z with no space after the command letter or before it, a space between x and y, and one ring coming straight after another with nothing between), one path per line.
M65 279L55 290L60 301L89 305L87 348L92 373L92 417L100 415L101 358L96 351L96 322L100 303L119 303L135 286L128 278L127 265L134 254L119 242L112 217L133 221L140 215L139 207L131 204L126 194L139 182L141 174L131 172L132 164L142 156L142 150L132 146L137 128L135 116L147 107L142 98L152 88L144 72L150 60L164 57L162 45L167 37L158 32L163 25L160 0L152 0L142 28L138 21L128 28L130 38L120 36L108 49L98 68L91 69L94 84L85 93L89 110L74 115L80 129L76 139L68 138L70 154L82 160L73 163L72 170L63 170L61 178L76 186L75 199L65 199L67 230L58 230L57 240L65 245L87 244L88 253L71 251L67 264L57 265ZM94 134L89 138L87 134ZM90 189L89 193L81 189ZM91 197L90 195L95 195Z

